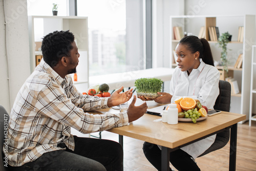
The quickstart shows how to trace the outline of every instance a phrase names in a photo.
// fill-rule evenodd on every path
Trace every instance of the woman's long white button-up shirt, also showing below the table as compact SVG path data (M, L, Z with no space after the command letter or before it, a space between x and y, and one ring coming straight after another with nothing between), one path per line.
M214 109L215 101L219 95L220 72L217 68L205 64L202 59L197 69L189 75L176 67L170 82L170 94L173 103L177 97L191 97L200 100L208 109ZM195 143L181 147L194 159L200 156L214 143L216 135L212 135Z

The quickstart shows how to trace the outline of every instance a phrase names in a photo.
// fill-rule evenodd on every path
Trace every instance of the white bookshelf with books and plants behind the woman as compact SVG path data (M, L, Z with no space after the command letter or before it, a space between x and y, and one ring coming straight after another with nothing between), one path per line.
M216 26L219 28L220 35L224 32L229 32L232 35L232 41L228 43L228 69L232 76L238 81L240 92L239 94L231 95L230 112L246 114L246 120L249 120L249 102L250 102L250 78L251 78L251 44L255 40L255 15L215 15L215 16L170 16L170 66L175 67L176 63L173 57L173 50L175 50L179 40L174 40L173 27L181 26L183 32L192 33L198 36L200 28L204 26ZM239 26L244 27L244 41L239 42L238 32ZM208 29L206 29L206 39L208 40L212 55L216 61L220 61L221 49L217 45L217 41L209 41ZM235 69L239 54L243 54L242 69ZM217 67L218 68L218 67ZM221 67L218 68L222 70ZM242 121L240 123L244 123Z

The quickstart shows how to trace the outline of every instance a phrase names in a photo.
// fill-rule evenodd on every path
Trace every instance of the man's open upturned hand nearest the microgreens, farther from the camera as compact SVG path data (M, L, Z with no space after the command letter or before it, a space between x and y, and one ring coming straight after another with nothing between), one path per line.
M112 93L108 100L109 108L115 105L119 105L121 103L125 103L129 101L133 95L133 89L130 89L124 93L120 93L123 90L123 87Z

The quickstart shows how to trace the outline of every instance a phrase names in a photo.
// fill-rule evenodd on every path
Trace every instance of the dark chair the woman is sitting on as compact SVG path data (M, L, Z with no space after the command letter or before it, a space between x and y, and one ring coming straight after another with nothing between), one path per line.
M229 112L230 109L230 97L231 97L231 85L228 81L220 80L219 82L220 94L214 105L214 109ZM224 147L230 137L230 129L226 129L216 135L214 143L199 157L204 156L210 152L216 151Z

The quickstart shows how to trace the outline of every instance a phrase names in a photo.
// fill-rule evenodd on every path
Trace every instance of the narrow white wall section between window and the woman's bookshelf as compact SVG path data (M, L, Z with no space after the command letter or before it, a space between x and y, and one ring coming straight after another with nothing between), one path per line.
M153 68L169 67L169 16L184 15L184 0L153 0Z

